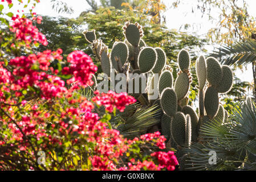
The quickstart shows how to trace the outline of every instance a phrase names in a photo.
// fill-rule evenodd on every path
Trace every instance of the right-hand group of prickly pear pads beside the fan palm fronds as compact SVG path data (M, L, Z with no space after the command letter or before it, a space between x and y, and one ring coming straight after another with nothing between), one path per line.
M233 82L233 73L226 65L221 66L214 57L209 57L206 60L204 56L198 57L196 73L199 114L197 115L192 107L186 105L192 77L189 73L189 53L185 50L180 51L178 55L178 65L180 72L178 72L174 88L167 81L162 80L166 78L165 75L168 71L165 71L160 76L159 89L165 88L162 93L160 90L161 107L165 113L162 125L171 130L165 135L171 134L168 138L172 138L177 146L183 147L189 146L191 141L197 142L200 127L205 123L211 122L213 119L222 123L227 118L227 111L220 104L218 93L229 92ZM169 117L170 125L166 122L166 115Z

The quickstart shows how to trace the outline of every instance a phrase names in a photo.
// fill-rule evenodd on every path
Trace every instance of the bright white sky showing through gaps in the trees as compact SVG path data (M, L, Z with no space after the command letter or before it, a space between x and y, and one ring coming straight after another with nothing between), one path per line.
M26 2L26 0L23 0ZM35 12L37 14L41 15L48 15L48 16L64 16L68 18L76 18L79 16L82 11L88 9L88 5L85 0L62 0L63 2L66 2L68 6L71 6L72 9L74 9L74 14L58 14L51 8L51 2L50 0L41 0L40 3L36 5ZM99 1L99 0L97 0ZM165 5L169 7L170 3L172 1L163 0ZM256 17L256 0L246 0L247 4L249 5L249 14ZM166 16L166 26L170 29L176 29L179 30L180 27L183 24L191 24L193 25L193 28L189 28L186 30L187 32L194 32L197 35L205 35L212 26L214 26L214 23L209 22L207 16L201 17L200 13L192 13L192 6L195 6L197 3L197 0L181 0L181 4L177 9L168 9L165 12ZM21 6L14 5L13 11L17 9L21 9ZM218 17L218 12L213 11L213 15ZM184 31L184 29L181 29ZM209 49L209 51L212 50L213 47L208 46L206 47ZM237 71L235 72L235 75L237 75L242 81L253 81L253 73L251 71L251 65L247 65L247 70L244 69L244 71Z

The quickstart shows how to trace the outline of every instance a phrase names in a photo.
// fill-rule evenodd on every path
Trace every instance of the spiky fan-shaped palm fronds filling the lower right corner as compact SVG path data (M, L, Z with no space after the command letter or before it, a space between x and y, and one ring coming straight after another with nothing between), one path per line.
M212 121L201 129L202 143L192 143L185 153L189 156L186 169L238 170L255 169L256 106L254 102L237 104L227 123ZM209 152L217 154L210 164Z

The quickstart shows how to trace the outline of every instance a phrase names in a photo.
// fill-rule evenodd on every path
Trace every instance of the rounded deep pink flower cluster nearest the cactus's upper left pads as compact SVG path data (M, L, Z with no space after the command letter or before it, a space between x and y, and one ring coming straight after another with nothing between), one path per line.
M67 56L69 67L63 68L64 75L74 75L67 81L68 84L76 84L87 87L94 84L92 75L97 71L97 67L92 63L91 57L82 51L74 51Z

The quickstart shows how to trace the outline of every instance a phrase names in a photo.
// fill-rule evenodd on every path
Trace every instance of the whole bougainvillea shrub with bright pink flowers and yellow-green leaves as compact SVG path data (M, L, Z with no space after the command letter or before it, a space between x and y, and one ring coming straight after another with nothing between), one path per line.
M32 13L40 23L41 18L34 17ZM108 127L109 114L124 111L136 102L133 97L96 91L88 100L75 92L94 84L97 67L86 53L71 52L66 61L70 65L63 69L50 67L53 61L64 61L61 49L13 58L22 50L18 47L31 49L36 42L47 45L47 40L31 20L18 15L12 20L14 35L7 40L12 44L0 55L0 170L175 169L172 151L147 149L165 148L159 132L130 140ZM67 81L62 76L68 76ZM104 114L99 106L105 107Z

